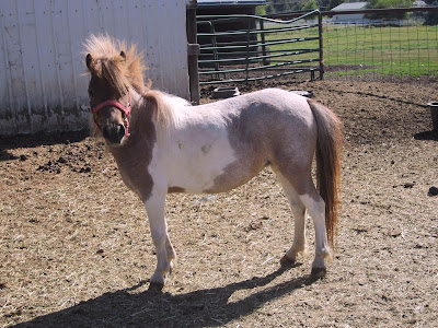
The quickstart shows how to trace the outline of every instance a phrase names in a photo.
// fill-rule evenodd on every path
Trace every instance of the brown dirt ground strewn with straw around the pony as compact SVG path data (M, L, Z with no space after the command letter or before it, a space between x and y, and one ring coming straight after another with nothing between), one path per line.
M343 119L338 244L325 279L279 259L291 212L269 169L228 194L171 195L178 262L163 294L146 211L87 132L0 139L0 326L436 327L438 80L261 82ZM203 93L207 102L208 89Z

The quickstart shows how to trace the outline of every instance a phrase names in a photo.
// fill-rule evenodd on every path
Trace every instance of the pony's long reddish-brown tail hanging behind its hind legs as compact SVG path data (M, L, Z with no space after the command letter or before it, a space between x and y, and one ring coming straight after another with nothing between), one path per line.
M318 126L316 184L325 201L325 226L328 243L337 235L337 208L341 197L341 155L343 124L327 107L308 99Z

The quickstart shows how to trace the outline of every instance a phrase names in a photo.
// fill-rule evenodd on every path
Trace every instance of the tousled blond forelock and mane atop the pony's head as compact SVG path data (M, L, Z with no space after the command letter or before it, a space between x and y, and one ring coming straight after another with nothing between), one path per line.
M93 58L89 69L92 74L105 79L119 94L125 94L134 87L142 94L150 86L145 85L142 54L138 54L136 46L127 47L125 42L112 38L108 35L91 35L85 43L85 52ZM125 52L125 57L120 52Z

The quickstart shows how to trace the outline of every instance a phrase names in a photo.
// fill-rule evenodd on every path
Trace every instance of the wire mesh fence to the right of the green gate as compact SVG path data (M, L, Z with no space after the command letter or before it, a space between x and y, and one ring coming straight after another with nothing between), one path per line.
M438 74L438 25L399 21L324 21L324 78L381 79Z

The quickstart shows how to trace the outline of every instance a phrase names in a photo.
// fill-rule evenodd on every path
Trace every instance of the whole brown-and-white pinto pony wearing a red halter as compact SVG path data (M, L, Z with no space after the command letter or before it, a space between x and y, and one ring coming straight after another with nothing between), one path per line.
M326 273L336 234L342 143L342 124L330 109L277 89L191 106L145 85L135 46L127 49L100 35L85 47L96 130L149 216L158 259L150 288L161 290L176 257L164 219L166 194L228 191L268 165L296 220L293 244L281 265L306 253L308 211L316 241L312 276ZM314 153L319 192L311 177Z

